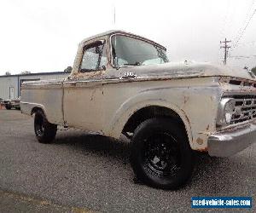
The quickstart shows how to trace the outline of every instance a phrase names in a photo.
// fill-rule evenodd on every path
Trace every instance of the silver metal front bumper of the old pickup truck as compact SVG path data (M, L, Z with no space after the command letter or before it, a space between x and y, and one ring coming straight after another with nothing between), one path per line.
M208 138L208 153L216 157L229 157L256 142L256 124L210 135Z

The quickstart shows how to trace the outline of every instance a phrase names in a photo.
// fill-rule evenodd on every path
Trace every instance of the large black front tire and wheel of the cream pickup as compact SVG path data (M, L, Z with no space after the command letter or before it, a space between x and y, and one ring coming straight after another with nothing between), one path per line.
M189 180L193 154L183 125L168 118L151 118L135 130L131 167L137 179L151 187L177 189Z

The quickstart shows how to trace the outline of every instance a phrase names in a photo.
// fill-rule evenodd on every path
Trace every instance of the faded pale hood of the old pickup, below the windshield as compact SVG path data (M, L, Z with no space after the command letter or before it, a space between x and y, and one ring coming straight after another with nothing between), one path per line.
M120 71L132 72L138 78L193 78L193 77L233 77L255 81L255 76L242 69L235 69L230 66L216 66L209 63L166 63L147 66L122 67Z

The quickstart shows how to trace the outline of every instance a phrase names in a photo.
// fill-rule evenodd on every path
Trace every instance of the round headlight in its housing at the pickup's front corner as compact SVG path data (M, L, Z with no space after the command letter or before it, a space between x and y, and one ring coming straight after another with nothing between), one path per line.
M218 108L217 125L221 127L229 125L234 112L235 101L232 98L222 99Z

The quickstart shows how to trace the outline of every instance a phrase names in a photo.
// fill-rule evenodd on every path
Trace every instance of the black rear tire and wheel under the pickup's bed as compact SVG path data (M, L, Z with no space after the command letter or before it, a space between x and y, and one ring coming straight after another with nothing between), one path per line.
M50 124L46 119L44 112L38 110L35 112L34 130L40 143L50 143L55 140L57 125Z

